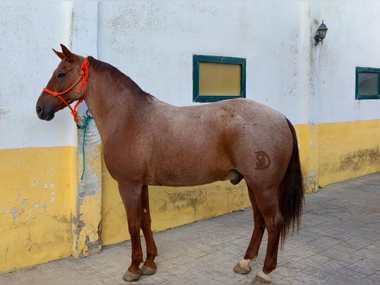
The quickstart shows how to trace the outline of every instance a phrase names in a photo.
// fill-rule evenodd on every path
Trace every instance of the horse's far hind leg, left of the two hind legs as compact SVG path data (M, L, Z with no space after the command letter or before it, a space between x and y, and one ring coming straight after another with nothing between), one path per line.
M248 246L246 255L244 256L243 259L239 261L239 263L234 268L234 272L239 273L239 274L248 274L251 271L250 263L253 260L255 260L257 257L261 239L265 231L264 218L257 208L253 191L249 186L248 186L248 195L250 197L252 208L253 208L254 228L253 228L250 245Z

